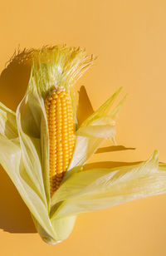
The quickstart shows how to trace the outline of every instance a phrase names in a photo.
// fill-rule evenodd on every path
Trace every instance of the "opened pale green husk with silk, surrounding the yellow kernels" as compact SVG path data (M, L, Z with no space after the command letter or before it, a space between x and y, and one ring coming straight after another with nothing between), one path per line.
M0 103L0 163L27 204L41 239L48 244L66 239L78 214L164 193L166 168L159 165L158 151L139 165L83 170L105 139L115 141L115 119L125 101L112 107L120 88L78 126L73 85L95 58L81 48L67 47L44 47L33 58L27 92L16 113ZM44 101L58 86L71 96L76 146L64 180L51 197Z

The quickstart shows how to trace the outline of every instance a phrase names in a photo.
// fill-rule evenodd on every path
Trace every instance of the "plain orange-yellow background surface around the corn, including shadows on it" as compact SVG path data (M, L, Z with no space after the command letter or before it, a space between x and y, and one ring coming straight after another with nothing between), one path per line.
M85 47L98 59L77 87L85 86L92 107L120 86L122 95L129 93L117 123L121 146L95 154L87 166L146 160L154 149L166 161L164 0L7 0L0 13L0 101L16 110L25 93L24 67L15 63L4 71L19 45L21 50L61 43ZM69 239L44 244L17 190L0 171L0 255L165 256L165 239L166 195L159 195L82 214Z

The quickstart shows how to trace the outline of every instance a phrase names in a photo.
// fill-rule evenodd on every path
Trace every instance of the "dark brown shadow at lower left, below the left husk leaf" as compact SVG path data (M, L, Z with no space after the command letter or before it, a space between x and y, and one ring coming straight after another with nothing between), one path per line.
M10 233L36 233L26 204L1 166L0 180L0 229Z

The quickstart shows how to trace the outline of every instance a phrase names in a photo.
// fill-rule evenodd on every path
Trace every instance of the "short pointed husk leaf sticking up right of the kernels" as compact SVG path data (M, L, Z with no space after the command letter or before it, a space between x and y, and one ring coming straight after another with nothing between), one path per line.
M105 101L100 108L88 117L76 130L76 146L71 159L68 170L72 170L76 166L85 165L90 156L95 153L100 145L106 139L115 141L115 120L112 113L120 111L125 98L120 101L118 106L110 112L116 97L120 94L121 88L115 92L113 96ZM110 114L109 114L110 112ZM114 115L115 116L115 115Z

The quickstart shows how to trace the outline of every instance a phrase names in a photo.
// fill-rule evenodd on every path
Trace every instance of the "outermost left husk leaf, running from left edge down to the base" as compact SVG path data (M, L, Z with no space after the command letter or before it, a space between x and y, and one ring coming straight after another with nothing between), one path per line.
M56 239L56 233L51 227L46 204L43 203L41 197L37 194L24 168L19 141L16 139L7 140L0 136L0 150L0 163L17 187L27 207L50 237Z

